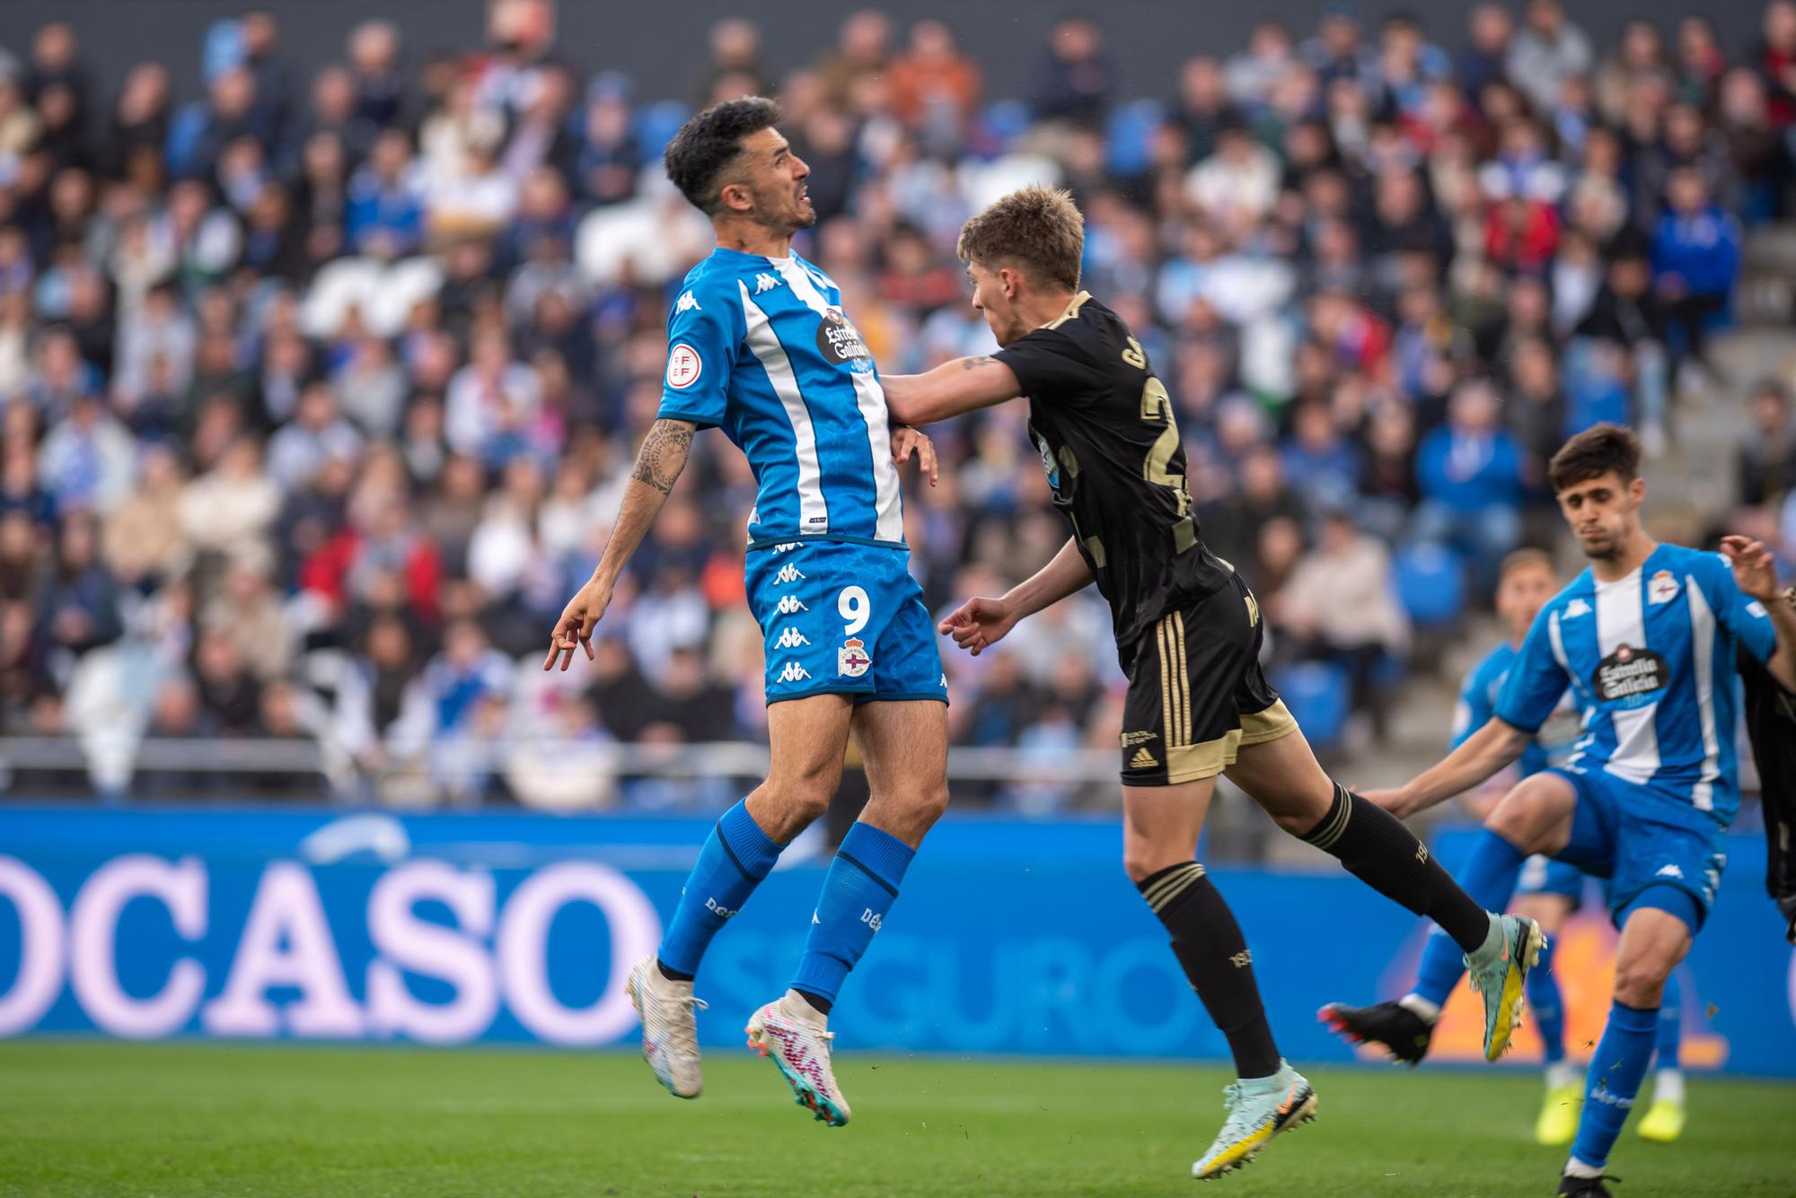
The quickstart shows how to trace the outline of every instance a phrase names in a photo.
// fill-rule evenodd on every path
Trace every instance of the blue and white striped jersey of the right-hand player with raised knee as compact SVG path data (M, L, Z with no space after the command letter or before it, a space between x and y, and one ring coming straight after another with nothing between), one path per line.
M1566 760L1654 784L1719 823L1740 807L1735 644L1764 662L1776 631L1719 554L1660 545L1615 583L1586 569L1528 629L1496 716L1537 730L1570 685L1584 735Z

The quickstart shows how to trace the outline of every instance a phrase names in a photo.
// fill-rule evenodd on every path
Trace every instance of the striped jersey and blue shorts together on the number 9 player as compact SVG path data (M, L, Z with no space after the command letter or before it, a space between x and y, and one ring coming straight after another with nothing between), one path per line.
M722 246L695 265L668 314L659 416L720 429L754 470L747 594L769 701L946 701L885 395L828 274L796 253Z

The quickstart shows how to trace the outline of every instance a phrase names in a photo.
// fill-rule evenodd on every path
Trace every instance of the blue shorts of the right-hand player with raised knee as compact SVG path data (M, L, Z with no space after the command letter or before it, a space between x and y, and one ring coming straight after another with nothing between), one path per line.
M1602 769L1564 766L1554 766L1550 773L1577 791L1572 839L1557 857L1609 879L1609 915L1620 918L1634 906L1654 906L1679 915L1692 933L1701 929L1715 904L1721 872L1728 866L1728 830L1651 782L1625 782ZM1679 890L1690 904L1636 904L1654 886Z

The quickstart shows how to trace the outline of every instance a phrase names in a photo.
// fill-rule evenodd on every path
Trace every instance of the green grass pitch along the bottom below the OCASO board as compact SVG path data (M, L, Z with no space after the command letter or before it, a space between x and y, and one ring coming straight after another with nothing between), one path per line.
M623 1053L0 1044L0 1194L1545 1196L1532 1071L1318 1069L1320 1119L1191 1180L1218 1065L837 1062L855 1121L711 1051L668 1098ZM1674 1146L1624 1132L1620 1198L1796 1194L1796 1085L1690 1081Z

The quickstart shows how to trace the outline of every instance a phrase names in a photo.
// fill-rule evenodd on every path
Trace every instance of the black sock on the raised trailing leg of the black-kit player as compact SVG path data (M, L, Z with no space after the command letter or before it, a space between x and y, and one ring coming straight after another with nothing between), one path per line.
M1460 890L1403 820L1334 784L1334 802L1302 841L1340 857L1361 882L1426 915L1466 952L1483 943L1491 916Z

